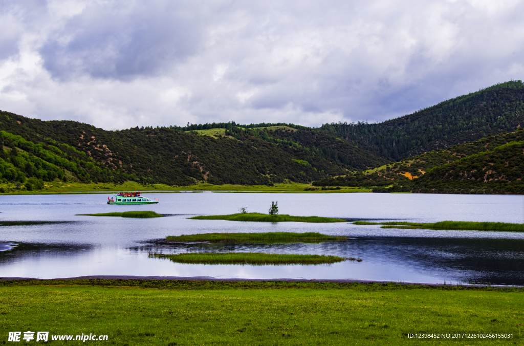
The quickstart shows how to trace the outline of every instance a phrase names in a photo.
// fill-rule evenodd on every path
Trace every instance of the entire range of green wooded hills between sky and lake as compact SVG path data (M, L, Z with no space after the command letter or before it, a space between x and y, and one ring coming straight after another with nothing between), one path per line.
M390 191L516 192L524 138L512 131L521 125L521 81L379 124L320 128L228 122L105 131L0 111L0 179L28 189L59 179L169 186L313 181L392 186Z

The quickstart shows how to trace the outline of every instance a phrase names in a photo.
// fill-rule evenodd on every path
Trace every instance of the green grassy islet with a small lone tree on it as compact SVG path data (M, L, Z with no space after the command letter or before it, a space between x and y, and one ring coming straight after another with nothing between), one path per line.
M257 222L346 222L343 219L322 217L296 217L286 214L237 213L230 215L201 215L188 219L194 220L228 220L228 221L257 221Z

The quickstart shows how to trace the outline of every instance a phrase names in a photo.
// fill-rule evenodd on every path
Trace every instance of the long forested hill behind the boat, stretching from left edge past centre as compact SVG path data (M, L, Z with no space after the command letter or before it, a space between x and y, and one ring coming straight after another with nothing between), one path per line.
M309 182L385 162L374 152L358 149L333 134L307 128L287 130L307 138L298 144L290 138L280 139L279 133L286 130L278 129L235 127L228 137L159 127L105 131L78 122L44 122L0 112L0 131L2 179L22 183L27 178L59 178L271 185L285 179ZM334 154L334 148L343 155Z

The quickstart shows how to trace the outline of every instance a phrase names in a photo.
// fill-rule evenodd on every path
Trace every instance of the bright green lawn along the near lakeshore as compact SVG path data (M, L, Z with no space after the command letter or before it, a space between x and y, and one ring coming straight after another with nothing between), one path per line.
M504 332L522 344L522 288L398 284L48 280L0 282L9 331L107 334L116 345L434 344L408 333ZM77 344L78 341L73 341ZM87 344L86 343L86 344ZM50 344L72 344L51 341Z

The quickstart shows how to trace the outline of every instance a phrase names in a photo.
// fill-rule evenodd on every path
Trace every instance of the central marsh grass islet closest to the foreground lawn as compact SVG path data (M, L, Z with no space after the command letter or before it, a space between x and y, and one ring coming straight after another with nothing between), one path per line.
M227 253L183 253L165 255L149 253L149 258L168 258L176 263L194 264L324 264L342 262L345 258L325 255L266 254L261 252L227 252Z

